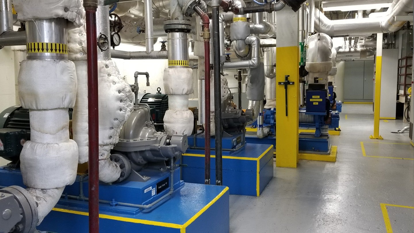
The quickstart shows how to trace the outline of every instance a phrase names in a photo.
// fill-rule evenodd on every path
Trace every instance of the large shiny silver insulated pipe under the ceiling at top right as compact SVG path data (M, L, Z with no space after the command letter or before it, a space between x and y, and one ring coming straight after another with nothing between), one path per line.
M315 8L314 25L318 32L330 36L369 36L376 33L395 32L405 23L396 21L395 16L412 13L412 0L394 0L387 12L387 16L378 18L330 20Z

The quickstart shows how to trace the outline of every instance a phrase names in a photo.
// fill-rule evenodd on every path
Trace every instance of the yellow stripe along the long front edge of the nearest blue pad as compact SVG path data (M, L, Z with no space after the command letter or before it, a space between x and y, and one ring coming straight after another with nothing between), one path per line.
M78 214L78 215L89 216L88 212L82 212L82 211L75 211L75 210L69 210L69 209L60 209L60 208L53 208L52 210L53 211L58 211L58 212L69 213L69 214ZM129 222L129 223L141 223L141 224L145 224L145 225L162 226L162 227L169 227L169 228L176 228L176 229L181 229L183 227L183 225L176 224L176 223L163 223L163 222L143 220L143 219L118 217L118 216L112 216L112 215L107 215L107 214L99 214L99 218L105 218L105 219L111 219L111 220Z

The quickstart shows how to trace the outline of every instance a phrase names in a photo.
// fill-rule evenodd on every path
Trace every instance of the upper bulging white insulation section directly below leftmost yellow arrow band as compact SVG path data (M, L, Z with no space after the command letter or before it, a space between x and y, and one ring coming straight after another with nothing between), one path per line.
M72 61L24 60L18 82L19 99L26 109L72 108L75 105L77 77Z

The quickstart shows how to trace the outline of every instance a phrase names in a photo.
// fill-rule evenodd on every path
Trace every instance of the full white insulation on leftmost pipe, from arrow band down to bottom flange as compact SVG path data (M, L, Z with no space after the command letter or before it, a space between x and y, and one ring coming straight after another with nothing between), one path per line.
M47 72L45 72L47 70ZM24 184L38 205L38 225L76 179L78 148L69 139L68 108L74 107L77 76L68 60L24 60L19 97L29 109L31 141L20 153Z

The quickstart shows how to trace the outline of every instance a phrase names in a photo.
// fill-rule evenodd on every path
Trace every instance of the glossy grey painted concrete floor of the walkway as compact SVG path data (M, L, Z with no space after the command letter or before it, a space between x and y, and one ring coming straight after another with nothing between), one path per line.
M296 169L276 167L260 197L232 195L232 233L387 232L381 203L414 206L414 150L408 133L390 133L406 124L381 120L384 140L371 140L372 104L342 109L341 135L331 137L337 162L301 160ZM414 232L414 209L387 208L394 233Z

